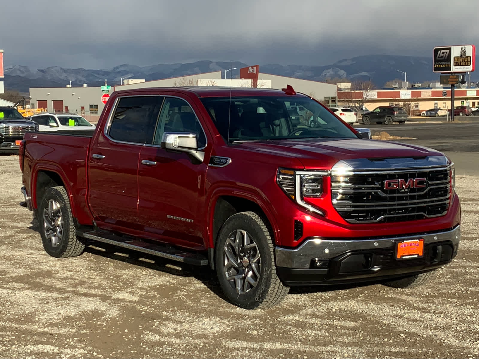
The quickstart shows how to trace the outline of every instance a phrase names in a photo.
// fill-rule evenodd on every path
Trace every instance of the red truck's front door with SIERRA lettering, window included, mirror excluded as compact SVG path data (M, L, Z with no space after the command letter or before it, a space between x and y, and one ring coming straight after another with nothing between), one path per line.
M144 230L166 237L179 246L204 249L199 215L205 189L206 164L192 161L185 153L160 147L164 132L193 132L198 146L206 146L205 132L186 99L166 97L153 145L140 153L138 167L138 216Z

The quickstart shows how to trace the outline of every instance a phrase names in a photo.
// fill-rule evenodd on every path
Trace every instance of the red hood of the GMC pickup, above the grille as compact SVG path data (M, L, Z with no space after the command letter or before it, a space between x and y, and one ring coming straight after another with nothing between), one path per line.
M442 156L431 148L369 139L305 139L245 142L243 149L296 157L305 168L330 170L342 159Z

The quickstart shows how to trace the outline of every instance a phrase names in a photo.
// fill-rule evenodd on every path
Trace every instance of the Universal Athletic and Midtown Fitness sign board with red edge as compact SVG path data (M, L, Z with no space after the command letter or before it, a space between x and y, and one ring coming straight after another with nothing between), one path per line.
M433 50L433 71L467 72L476 67L476 46L439 46Z

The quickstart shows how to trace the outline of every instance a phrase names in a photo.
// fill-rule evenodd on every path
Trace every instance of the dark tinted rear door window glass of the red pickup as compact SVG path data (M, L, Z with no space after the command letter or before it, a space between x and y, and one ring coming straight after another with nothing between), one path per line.
M121 98L108 135L117 141L151 144L162 101L159 96Z

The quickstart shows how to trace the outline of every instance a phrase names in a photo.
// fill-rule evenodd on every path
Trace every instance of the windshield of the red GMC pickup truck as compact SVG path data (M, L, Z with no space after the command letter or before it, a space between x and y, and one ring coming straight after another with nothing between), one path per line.
M201 98L223 138L228 138L229 97ZM301 138L357 138L335 115L308 97L231 99L230 142Z

